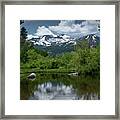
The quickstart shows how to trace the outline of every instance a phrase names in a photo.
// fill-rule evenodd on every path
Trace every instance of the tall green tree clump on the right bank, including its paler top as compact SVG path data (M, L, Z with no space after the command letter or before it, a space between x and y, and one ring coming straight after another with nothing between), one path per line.
M80 41L76 45L77 71L84 74L94 74L100 72L100 47L89 48L87 40Z

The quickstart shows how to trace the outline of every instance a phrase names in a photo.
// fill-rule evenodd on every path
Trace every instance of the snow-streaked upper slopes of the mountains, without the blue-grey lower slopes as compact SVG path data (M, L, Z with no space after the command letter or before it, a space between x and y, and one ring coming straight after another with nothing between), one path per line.
M47 30L46 30L47 31ZM48 35L50 34L50 35ZM43 46L43 47L49 47L49 46L68 46L68 45L76 45L77 42L81 40L87 40L89 43L89 46L96 46L97 43L99 43L99 37L96 34L89 34L87 36L83 36L80 38L71 38L68 35L61 34L61 35L55 35L51 32L48 32L47 35L42 36L31 36L29 39L30 42L32 42L34 45Z

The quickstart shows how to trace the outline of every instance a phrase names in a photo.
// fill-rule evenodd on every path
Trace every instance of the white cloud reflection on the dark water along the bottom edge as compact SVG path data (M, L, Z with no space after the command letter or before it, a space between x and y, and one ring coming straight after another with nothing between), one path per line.
M78 96L72 85L67 86L62 83L46 82L39 84L36 91L33 92L30 100L95 100L96 94L86 94Z

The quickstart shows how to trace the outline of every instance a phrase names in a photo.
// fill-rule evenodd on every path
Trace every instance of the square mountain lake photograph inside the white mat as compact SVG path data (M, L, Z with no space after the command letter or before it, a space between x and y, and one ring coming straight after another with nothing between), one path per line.
M20 100L100 100L100 20L20 20Z

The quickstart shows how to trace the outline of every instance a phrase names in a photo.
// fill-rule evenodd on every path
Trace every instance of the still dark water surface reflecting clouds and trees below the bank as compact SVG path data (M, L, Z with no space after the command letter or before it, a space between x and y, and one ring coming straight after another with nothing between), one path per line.
M21 100L99 100L99 76L40 74L31 81L21 74Z

